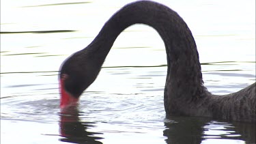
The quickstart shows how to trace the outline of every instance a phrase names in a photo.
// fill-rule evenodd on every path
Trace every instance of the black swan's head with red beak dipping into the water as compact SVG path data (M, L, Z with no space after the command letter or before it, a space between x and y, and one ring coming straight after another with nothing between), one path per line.
M94 82L100 67L84 51L74 53L61 65L59 72L59 90L61 109L76 106L79 97Z

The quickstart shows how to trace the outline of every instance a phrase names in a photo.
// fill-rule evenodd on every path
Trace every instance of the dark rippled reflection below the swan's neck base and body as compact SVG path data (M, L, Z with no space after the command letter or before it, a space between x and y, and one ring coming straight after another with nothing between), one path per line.
M255 143L255 124L213 121L205 117L165 120L167 143Z

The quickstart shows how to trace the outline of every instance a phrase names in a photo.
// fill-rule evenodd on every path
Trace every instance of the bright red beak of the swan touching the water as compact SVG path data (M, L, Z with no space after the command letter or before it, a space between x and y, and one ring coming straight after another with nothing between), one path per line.
M59 89L61 93L61 109L66 108L67 106L76 106L79 98L74 98L70 93L68 93L64 88L64 79L61 78L59 81Z

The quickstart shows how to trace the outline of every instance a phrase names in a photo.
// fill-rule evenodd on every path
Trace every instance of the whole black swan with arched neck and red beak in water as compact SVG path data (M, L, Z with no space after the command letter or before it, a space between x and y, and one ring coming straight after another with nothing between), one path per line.
M255 122L255 83L236 93L215 96L203 86L199 54L184 20L153 1L125 5L102 27L86 48L68 57L59 74L61 108L75 105L94 82L117 36L133 24L153 27L165 42L167 78L164 103L168 115L214 117Z

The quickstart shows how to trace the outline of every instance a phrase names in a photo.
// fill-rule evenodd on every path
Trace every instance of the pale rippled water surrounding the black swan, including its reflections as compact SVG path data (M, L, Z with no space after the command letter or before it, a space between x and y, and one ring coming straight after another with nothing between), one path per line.
M59 111L62 61L130 1L1 1L1 143L255 143L255 124L165 117L165 47L134 25L80 106ZM214 94L255 82L255 1L159 1L188 24Z

